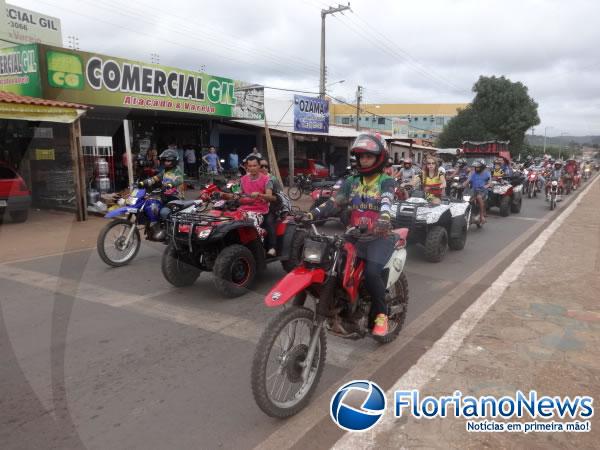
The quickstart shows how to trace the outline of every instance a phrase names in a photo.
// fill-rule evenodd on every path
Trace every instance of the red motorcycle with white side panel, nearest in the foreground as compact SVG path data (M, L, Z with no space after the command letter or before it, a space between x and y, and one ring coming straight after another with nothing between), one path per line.
M394 230L394 252L382 276L389 308L389 333L372 336L385 344L398 337L406 319L408 282L404 274L408 230ZM327 333L346 339L370 336L369 294L364 285L365 262L354 242L373 239L362 228L327 236L314 223L304 242L303 263L265 297L269 308L287 303L266 326L252 363L252 393L271 417L301 411L317 387L325 365ZM314 309L305 306L314 299ZM272 369L272 370L270 370Z

